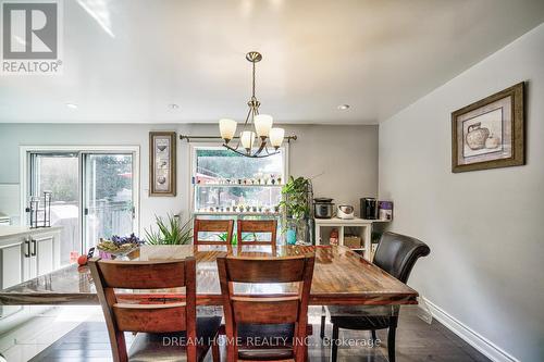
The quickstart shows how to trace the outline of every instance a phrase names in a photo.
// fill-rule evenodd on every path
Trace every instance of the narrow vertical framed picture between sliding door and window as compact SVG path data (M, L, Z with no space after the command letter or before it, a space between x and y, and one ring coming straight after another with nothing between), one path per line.
M149 133L149 196L175 196L175 132Z

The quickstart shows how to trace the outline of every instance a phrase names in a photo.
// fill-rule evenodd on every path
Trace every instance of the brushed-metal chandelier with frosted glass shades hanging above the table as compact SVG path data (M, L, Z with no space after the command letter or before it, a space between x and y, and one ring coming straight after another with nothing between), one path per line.
M246 59L251 63L254 68L252 92L251 98L247 102L249 111L247 112L246 122L242 125L242 132L239 133L236 146L230 145L231 140L235 138L236 121L230 118L219 120L219 130L221 133L221 138L224 140L223 146L225 148L248 158L265 158L279 153L277 150L284 140L285 129L277 127L272 128L273 117L269 114L259 113L259 105L261 105L261 103L257 100L257 97L255 97L255 65L262 60L262 55L257 51L250 51L246 54ZM258 147L254 148L256 138L257 142L260 143ZM288 137L288 139L290 139L290 137ZM271 150L269 150L268 140L270 140L270 145L273 148Z

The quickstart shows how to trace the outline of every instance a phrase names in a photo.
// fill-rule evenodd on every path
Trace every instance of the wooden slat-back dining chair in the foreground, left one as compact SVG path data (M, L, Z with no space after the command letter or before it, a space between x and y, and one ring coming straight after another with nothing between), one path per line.
M219 361L214 341L221 316L196 317L196 262L175 261L89 261L115 362L202 361L210 345ZM118 300L114 289L162 289L185 287L185 301L134 304ZM136 333L126 350L125 332ZM201 338L201 339L200 339Z

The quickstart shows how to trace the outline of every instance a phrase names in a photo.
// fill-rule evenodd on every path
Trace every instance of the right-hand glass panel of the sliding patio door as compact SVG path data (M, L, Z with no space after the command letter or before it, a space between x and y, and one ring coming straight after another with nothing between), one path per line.
M86 249L100 238L134 232L133 154L85 154Z

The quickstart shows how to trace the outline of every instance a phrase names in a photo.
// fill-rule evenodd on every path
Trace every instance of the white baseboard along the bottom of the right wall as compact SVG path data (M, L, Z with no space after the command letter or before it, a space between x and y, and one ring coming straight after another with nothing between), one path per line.
M435 317L445 327L462 338L467 344L474 347L490 360L494 362L520 362L518 359L508 354L497 345L493 344L491 340L486 339L470 327L462 324L460 321L448 314L446 311L444 311L442 308L440 308L429 299L424 297L422 297L421 299L429 308L433 317Z

